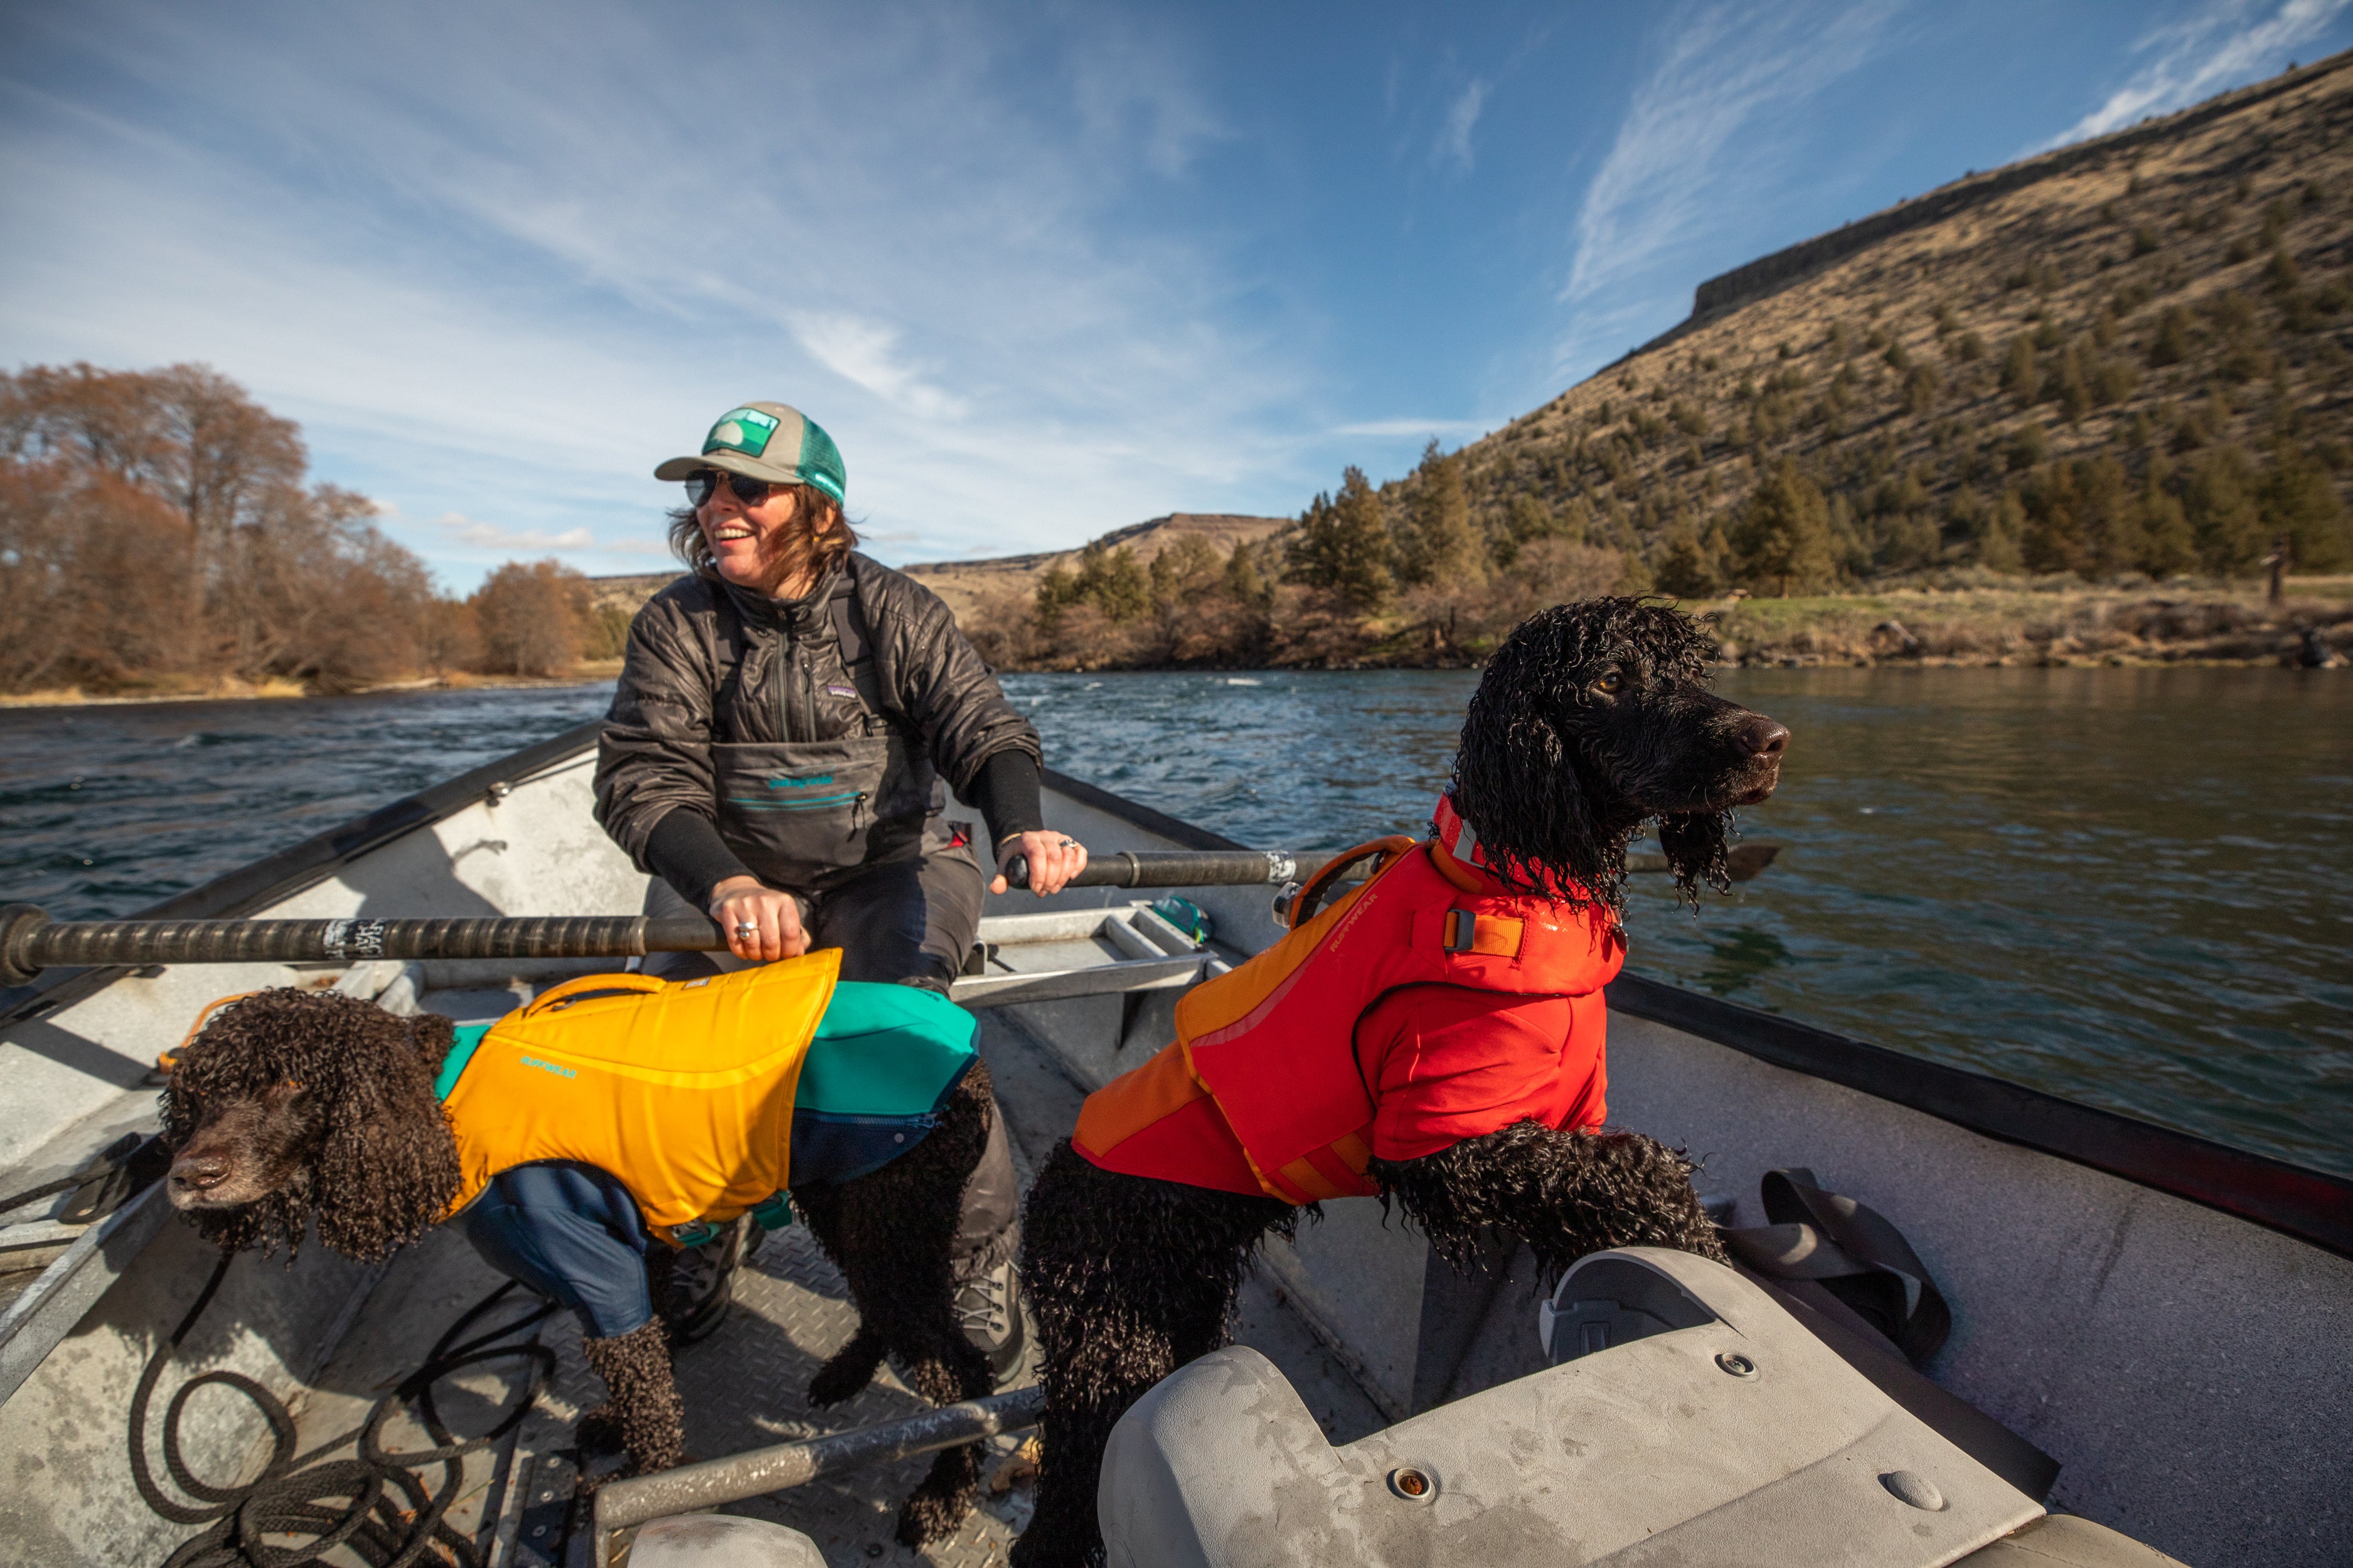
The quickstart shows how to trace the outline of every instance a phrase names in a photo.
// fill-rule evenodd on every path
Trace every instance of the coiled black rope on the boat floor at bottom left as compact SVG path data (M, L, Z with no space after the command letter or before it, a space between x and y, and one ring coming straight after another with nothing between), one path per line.
M456 1502L466 1455L489 1448L522 1425L522 1418L529 1415L539 1392L553 1375L555 1352L546 1345L499 1342L555 1312L553 1302L544 1302L536 1312L456 1342L485 1312L515 1291L513 1281L499 1286L449 1324L449 1331L433 1345L426 1363L369 1406L367 1420L308 1453L294 1453L294 1418L285 1403L245 1373L221 1368L191 1378L172 1394L172 1403L162 1418L165 1469L188 1497L207 1505L188 1507L165 1495L148 1467L148 1403L155 1396L162 1368L179 1352L181 1340L188 1338L195 1321L205 1316L205 1307L212 1305L233 1258L235 1253L221 1253L219 1267L212 1269L212 1279L205 1281L195 1305L188 1307L188 1316L179 1321L169 1340L155 1347L146 1371L139 1375L139 1392L132 1396L132 1479L139 1483L139 1495L146 1497L151 1509L174 1523L212 1523L209 1530L165 1559L165 1568L304 1568L306 1563L322 1563L336 1547L346 1547L372 1568L409 1568L433 1549L440 1554L438 1561L454 1563L456 1568L482 1568L482 1554L475 1552L475 1544L452 1530L442 1516ZM440 1420L440 1410L433 1403L433 1385L468 1366L513 1356L525 1359L532 1368L522 1396L515 1399L496 1427L482 1436L459 1441ZM271 1462L245 1486L207 1486L188 1469L181 1455L181 1413L200 1387L214 1382L252 1401L261 1420L271 1427ZM384 1448L384 1422L409 1403L416 1406L416 1420L433 1434L435 1446L388 1453ZM353 1441L358 1441L358 1458L322 1462L322 1455ZM431 1465L442 1467L440 1490L426 1486L421 1474ZM346 1497L348 1505L334 1507L334 1500ZM287 1535L308 1540L289 1547L266 1540L271 1535L280 1540Z

